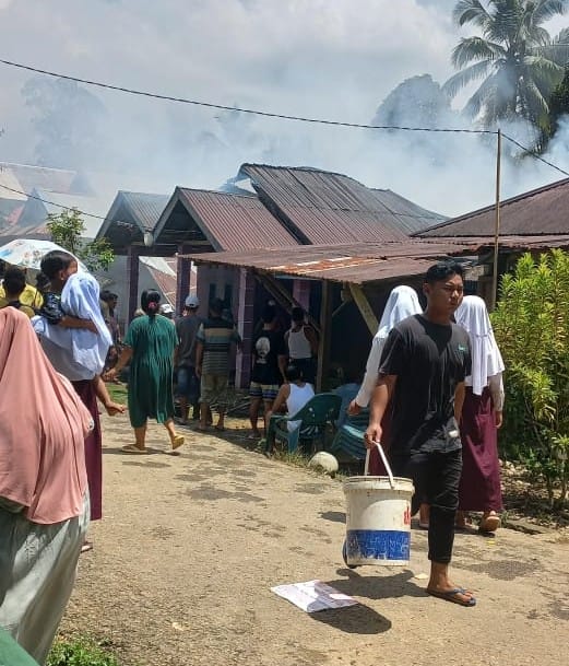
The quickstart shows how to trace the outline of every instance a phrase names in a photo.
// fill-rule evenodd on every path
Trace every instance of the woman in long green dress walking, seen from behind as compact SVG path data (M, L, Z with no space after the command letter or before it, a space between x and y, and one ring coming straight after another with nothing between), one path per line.
M157 291L142 292L144 316L132 320L122 343L125 348L117 365L105 379L112 381L130 362L129 416L134 429L134 444L122 447L125 453L147 453L146 421L164 423L171 449L183 444L174 428L173 361L178 346L174 322L158 314L161 295Z

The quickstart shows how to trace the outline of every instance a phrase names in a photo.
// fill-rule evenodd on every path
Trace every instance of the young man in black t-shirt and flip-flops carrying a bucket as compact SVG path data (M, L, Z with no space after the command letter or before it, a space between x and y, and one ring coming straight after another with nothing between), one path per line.
M431 507L427 593L475 606L472 592L454 585L449 577L462 470L459 421L464 381L472 365L469 335L452 322L463 290L460 264L442 261L427 271L423 285L425 313L398 324L386 341L365 443L372 448L381 442L381 419L391 400L386 444L393 474L413 479L412 514L424 500Z

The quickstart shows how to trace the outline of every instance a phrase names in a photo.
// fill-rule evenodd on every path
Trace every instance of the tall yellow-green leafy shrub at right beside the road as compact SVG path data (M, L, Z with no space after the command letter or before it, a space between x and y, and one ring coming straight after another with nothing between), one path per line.
M569 479L569 254L524 255L493 314L506 363L505 453L545 480L552 505Z

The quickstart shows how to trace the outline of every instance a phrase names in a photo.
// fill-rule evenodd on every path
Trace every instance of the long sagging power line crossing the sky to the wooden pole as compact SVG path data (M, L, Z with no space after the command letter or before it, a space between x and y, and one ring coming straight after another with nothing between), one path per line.
M265 118L278 118L281 120L296 120L299 122L311 122L315 125L332 125L335 127L351 127L356 129L395 129L411 132L453 132L464 135L497 135L496 130L490 129L466 129L466 128L431 128L431 127L401 127L396 125L365 125L360 122L345 122L342 120L327 120L323 118L308 118L306 116L289 116L286 114L274 114L271 112L258 110L252 108L239 108L237 106L225 106L223 104L214 104L212 102L200 102L198 100L188 100L186 97L174 97L170 95L163 95L159 93L151 93L147 91L134 90L131 87L123 87L121 85L112 85L110 83L102 83L100 81L91 81L88 79L80 79L79 77L71 77L69 74L59 74L37 67L31 67L29 65L21 65L20 62L12 62L11 60L0 59L1 65L8 65L9 67L15 67L17 69L25 69L31 72L38 74L45 74L47 77L54 77L56 79L64 79L67 81L74 81L76 83L84 83L85 85L94 85L105 90L114 90L121 93L128 93L130 95L139 95L142 97L152 97L154 100L163 100L166 102L177 102L179 104L191 104L193 106L204 106L206 108L215 108L218 110L237 112L240 114L249 114L253 116L263 116Z

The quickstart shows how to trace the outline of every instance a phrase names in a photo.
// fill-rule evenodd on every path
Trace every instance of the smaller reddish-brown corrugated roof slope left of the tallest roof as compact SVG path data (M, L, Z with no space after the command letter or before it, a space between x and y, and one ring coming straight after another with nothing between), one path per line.
M225 250L295 245L296 238L254 196L180 188L189 212Z

